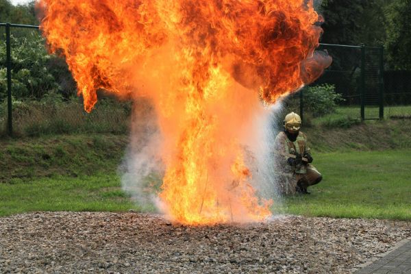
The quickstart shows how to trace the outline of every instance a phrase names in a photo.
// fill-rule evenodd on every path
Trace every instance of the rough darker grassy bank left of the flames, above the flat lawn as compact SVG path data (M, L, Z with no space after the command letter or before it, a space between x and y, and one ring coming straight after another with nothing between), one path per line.
M89 134L0 142L0 182L64 175L115 173L128 138Z

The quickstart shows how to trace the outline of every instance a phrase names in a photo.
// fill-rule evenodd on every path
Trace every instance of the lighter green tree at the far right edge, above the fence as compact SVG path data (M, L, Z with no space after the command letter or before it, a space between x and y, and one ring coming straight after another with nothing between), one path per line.
M411 0L392 0L384 14L388 67L411 70Z

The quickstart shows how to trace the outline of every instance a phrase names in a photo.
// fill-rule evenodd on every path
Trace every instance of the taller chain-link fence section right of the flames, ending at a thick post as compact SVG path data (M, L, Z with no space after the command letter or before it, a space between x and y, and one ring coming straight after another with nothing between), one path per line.
M338 108L341 114L361 120L382 119L382 48L321 44L319 49L327 51L333 62L310 86L334 86L343 99Z

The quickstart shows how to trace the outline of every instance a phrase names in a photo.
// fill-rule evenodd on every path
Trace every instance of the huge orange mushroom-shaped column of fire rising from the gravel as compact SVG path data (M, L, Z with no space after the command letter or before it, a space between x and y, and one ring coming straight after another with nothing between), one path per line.
M49 49L84 108L99 89L153 101L166 166L159 197L181 223L260 221L241 144L265 104L319 77L321 21L307 0L40 0ZM251 157L252 158L252 157Z

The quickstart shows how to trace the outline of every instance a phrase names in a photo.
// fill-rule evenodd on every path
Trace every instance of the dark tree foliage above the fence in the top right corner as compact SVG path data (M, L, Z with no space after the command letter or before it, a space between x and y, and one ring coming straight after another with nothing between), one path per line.
M384 45L388 69L411 69L411 0L325 0L319 10L321 42Z

